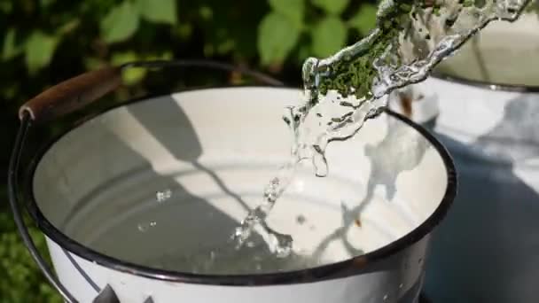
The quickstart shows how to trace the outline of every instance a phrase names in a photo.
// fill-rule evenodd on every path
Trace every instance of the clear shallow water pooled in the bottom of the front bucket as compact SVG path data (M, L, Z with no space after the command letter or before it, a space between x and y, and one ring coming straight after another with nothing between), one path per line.
M340 232L343 221L355 218L350 214L354 208L351 202L365 195L364 187L338 178L322 181L306 170L294 181L290 193L283 197L283 202L268 218L273 229L293 231L296 239L294 254L278 258L260 237L250 239L237 251L236 245L227 241L227 232L230 234L230 230L246 215L246 207L242 205L249 208L256 205L260 198L260 185L266 180L263 176L271 174L272 168L248 163L208 167L234 194L215 184L216 179L203 170L174 174L174 179L183 186L155 180L151 171L128 175L117 183L109 184L109 188L101 189L99 196L103 200L98 198L92 203L106 203L111 196L127 191L129 201L124 203L133 206L129 211L99 226L89 225L88 214L81 211L66 225L66 229L76 230L74 232L84 237L85 243L99 252L121 255L124 260L153 268L205 274L309 268L346 260L402 236L399 229L388 229L369 216L361 221L354 219L351 228ZM171 198L159 202L152 197L154 191L150 189L163 186L170 187ZM121 191L116 191L118 189ZM332 196L342 199L343 205L324 201L324 198ZM351 202L347 203L347 200ZM378 212L388 213L388 218L398 212L385 209L383 199L376 195L369 203L378 206ZM350 218L343 219L346 216ZM412 218L398 218L398 213L393 216L397 217L402 228L410 229L414 225ZM394 225L398 227L396 220ZM347 241L340 241L343 237ZM122 239L122 245L118 245L118 239Z

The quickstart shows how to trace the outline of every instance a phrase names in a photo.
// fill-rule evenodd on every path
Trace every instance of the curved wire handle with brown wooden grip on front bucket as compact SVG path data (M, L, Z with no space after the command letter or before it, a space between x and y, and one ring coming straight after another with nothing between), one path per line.
M130 67L162 68L162 67L206 67L221 69L229 72L239 72L253 77L255 80L271 86L283 86L280 82L266 74L253 70L211 60L154 60L129 62L121 66L107 66L85 74L80 74L65 82L46 89L43 93L33 97L24 105L20 106L20 127L15 137L12 155L8 167L8 197L12 208L13 220L19 231L20 237L35 260L37 266L43 272L49 283L67 303L78 303L78 300L67 291L59 279L53 274L49 264L43 259L35 247L34 240L28 233L20 210L19 169L20 156L24 149L28 130L33 124L39 125L51 120L56 120L68 113L81 110L85 105L104 97L107 93L117 89L121 85L121 73Z

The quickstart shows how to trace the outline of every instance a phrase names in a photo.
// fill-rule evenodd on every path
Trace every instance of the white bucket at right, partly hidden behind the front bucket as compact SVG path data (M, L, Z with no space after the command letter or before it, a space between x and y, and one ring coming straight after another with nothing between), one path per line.
M434 302L538 301L538 28L535 15L492 24L413 88L430 97L420 113L438 108L431 130L459 173L427 262Z

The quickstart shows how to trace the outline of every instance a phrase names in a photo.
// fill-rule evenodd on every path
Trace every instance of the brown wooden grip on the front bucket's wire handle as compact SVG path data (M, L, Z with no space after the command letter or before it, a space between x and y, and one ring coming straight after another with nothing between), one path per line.
M54 120L90 104L121 84L121 68L105 67L81 74L43 91L20 106L19 117L25 113L35 122Z

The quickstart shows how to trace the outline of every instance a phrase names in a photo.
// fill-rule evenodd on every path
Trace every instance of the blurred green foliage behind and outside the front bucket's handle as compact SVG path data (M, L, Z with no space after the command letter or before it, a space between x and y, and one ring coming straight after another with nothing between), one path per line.
M301 63L353 43L375 24L375 0L0 0L0 171L17 109L53 84L109 64L208 58L301 83ZM125 91L151 82L125 74ZM159 88L158 89L168 89ZM123 92L122 92L123 91ZM55 128L51 128L54 132ZM61 302L20 244L0 183L0 303ZM43 237L32 227L37 245Z

